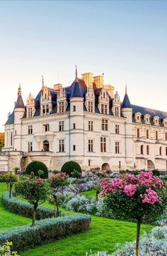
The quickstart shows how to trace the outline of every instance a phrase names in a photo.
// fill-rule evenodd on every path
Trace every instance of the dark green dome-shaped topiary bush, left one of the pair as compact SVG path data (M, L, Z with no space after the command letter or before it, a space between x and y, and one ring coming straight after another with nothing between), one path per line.
M40 175L42 179L48 178L48 169L47 166L43 162L33 161L25 169L25 174L30 175L31 172L35 174L35 176L39 177L39 171L42 171L43 174Z

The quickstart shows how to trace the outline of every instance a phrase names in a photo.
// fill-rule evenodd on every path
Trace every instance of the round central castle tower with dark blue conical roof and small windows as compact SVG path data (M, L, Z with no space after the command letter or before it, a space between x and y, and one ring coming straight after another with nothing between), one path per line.
M77 77L71 84L69 157L84 155L84 97Z

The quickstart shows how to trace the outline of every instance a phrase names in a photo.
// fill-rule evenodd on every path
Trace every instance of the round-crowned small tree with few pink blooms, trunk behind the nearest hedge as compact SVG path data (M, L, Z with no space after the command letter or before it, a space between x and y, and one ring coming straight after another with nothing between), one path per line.
M43 204L50 193L47 180L35 177L32 172L30 177L19 180L16 185L16 194L23 196L30 204L33 204L32 227L35 226L36 212L39 204Z

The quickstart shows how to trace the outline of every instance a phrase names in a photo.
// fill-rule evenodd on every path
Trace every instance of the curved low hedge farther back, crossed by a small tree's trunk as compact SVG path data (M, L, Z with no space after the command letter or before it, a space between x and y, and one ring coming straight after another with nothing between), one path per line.
M11 196L11 199L8 197L8 192L4 192L2 195L2 204L8 211L12 213L16 213L25 217L32 217L33 213L33 205L29 204L26 201L22 201L21 199L17 199L14 196ZM54 210L44 206L38 206L36 218L37 220L43 218L52 218L54 216Z

